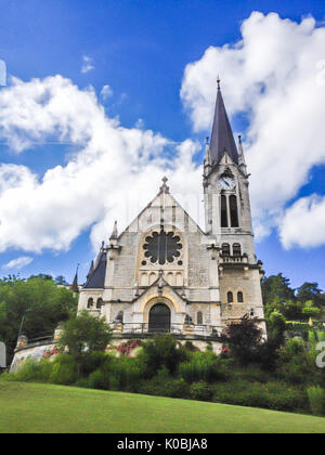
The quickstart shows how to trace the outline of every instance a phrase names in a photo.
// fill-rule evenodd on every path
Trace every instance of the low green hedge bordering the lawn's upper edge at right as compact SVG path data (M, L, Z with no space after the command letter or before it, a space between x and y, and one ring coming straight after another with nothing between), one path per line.
M214 386L213 402L274 411L307 411L307 393L277 382L234 381Z

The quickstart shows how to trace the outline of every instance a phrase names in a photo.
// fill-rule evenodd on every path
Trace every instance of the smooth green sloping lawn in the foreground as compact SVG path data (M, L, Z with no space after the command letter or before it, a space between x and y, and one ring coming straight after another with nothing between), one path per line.
M3 432L325 433L325 418L74 387L0 382Z

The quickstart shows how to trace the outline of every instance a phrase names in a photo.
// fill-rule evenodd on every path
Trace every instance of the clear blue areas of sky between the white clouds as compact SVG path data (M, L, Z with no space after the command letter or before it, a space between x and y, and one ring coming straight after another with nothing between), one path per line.
M106 115L118 117L123 128L131 129L141 119L140 129L152 130L176 143L191 139L200 144L209 134L209 128L194 127L191 109L195 113L195 107L192 103L188 109L180 96L186 65L200 61L209 47L240 40L240 25L252 11L264 15L276 12L281 18L297 23L312 15L320 27L325 18L323 0L0 0L0 60L5 62L9 76L28 82L61 75L80 90L92 86ZM87 73L81 70L87 63L84 57L94 66ZM104 86L109 86L113 92L106 100L101 98ZM0 88L0 93L4 89ZM227 90L225 104L229 99L230 113L236 114L231 96L226 96ZM243 115L232 116L232 125L234 131L245 133ZM5 138L0 138L1 162L26 166L41 181L49 169L66 166L78 150L76 144L58 143L55 134L47 135L41 142L16 153L6 145ZM197 151L194 160L202 159L203 152ZM284 209L313 194L324 197L325 161L322 159L310 166L308 178L303 184L301 181L297 184L291 197L283 204ZM109 194L103 194L105 197ZM112 222L106 223L107 230L113 225L114 216L113 212ZM93 223L98 218L94 214ZM80 227L69 246L56 251L53 248L24 250L22 243L20 246L9 243L0 255L2 275L18 272L3 265L18 257L28 257L32 261L21 269L22 276L46 272L55 276L62 274L72 281L80 263L82 281L94 255L90 237L93 223ZM316 281L325 288L325 246L321 240L316 246L294 243L285 249L278 230L272 226L269 235L257 243L257 252L268 274L283 272L295 287L304 281Z

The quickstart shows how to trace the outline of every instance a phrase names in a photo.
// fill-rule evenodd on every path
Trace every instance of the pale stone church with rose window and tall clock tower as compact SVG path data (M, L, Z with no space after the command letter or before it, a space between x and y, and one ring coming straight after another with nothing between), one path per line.
M203 167L205 231L162 179L156 197L120 234L115 222L79 292L78 311L104 317L114 340L171 333L220 352L220 335L245 314L265 330L262 262L255 253L249 174L220 80Z

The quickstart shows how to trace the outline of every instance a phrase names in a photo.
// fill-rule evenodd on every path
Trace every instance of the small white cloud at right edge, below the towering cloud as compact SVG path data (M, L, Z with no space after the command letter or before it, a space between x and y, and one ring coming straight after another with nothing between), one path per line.
M325 197L312 195L297 200L286 211L280 234L287 249L325 244Z

